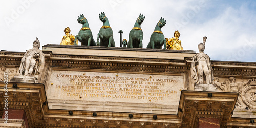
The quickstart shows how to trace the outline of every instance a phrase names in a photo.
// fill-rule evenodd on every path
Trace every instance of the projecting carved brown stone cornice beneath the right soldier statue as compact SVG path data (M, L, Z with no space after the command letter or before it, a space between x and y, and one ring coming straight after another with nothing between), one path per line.
M208 93L182 91L180 99L181 111L178 112L182 119L182 127L196 127L199 117L219 118L221 125L229 121L238 93L215 92L212 97L208 97Z

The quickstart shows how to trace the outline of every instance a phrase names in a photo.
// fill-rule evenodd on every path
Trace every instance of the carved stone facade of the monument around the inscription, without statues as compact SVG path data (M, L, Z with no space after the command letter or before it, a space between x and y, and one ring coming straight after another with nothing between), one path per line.
M0 82L0 113L8 96L8 109L27 117L9 119L10 127L197 127L209 120L219 127L256 126L256 63L211 60L211 92L195 90L196 52L190 50L45 45L42 51L38 83L8 81L6 93ZM18 74L24 54L0 51L8 79Z

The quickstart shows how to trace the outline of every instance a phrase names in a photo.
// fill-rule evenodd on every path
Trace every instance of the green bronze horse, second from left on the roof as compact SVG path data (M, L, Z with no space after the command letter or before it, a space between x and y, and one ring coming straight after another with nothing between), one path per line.
M100 28L98 37L97 37L97 44L100 46L108 46L108 47L115 47L115 41L113 38L113 31L110 27L110 23L108 18L106 17L105 13L101 12L99 14L99 19L103 22L103 26ZM100 43L99 43L100 38Z

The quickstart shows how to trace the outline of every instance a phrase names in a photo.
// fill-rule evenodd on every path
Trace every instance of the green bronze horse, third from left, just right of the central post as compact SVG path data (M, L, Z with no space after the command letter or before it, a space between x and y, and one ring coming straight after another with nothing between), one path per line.
M142 48L143 31L140 28L141 23L144 21L146 16L143 14L139 15L136 19L133 29L129 33L128 48Z

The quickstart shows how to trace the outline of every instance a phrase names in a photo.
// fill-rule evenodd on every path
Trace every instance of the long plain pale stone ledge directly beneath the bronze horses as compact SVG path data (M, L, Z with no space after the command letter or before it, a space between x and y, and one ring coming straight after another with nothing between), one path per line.
M118 47L97 47L97 46L69 46L50 45L42 47L42 51L51 52L54 55L72 56L101 56L101 57L124 57L124 58L147 58L165 60L184 60L195 54L191 50L160 50L140 48L118 48Z

